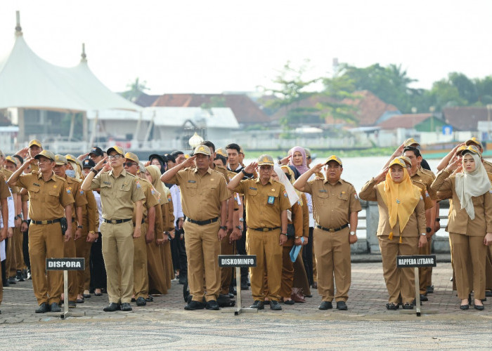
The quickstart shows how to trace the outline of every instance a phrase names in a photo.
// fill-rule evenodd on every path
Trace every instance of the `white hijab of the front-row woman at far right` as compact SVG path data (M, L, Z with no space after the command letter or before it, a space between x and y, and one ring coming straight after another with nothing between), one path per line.
M473 207L472 197L479 197L491 190L491 182L488 180L487 172L481 163L479 155L472 154L475 161L475 170L456 174L455 192L461 202L461 209L465 208L471 220L475 218L475 209ZM465 156L465 155L463 155Z

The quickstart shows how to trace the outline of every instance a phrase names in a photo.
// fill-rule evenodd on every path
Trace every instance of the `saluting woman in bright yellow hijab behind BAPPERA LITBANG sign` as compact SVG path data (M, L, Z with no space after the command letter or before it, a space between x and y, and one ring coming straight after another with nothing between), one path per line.
M396 256L417 255L427 244L425 237L425 204L420 188L412 184L402 159L396 158L382 173L365 183L359 197L377 201L380 220L377 238L380 242L384 281L389 294L386 307L413 309L415 279L413 269L396 267Z

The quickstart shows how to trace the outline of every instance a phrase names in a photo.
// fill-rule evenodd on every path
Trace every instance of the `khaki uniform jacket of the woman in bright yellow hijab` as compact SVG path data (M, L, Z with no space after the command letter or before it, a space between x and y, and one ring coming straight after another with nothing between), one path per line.
M418 201L413 213L410 215L410 218L408 218L405 228L401 232L400 223L398 220L396 220L396 225L393 228L389 226L388 207L384 203L384 199L382 199L381 193L377 190L376 185L377 183L374 178L369 180L368 183L365 183L362 187L362 190L358 193L358 196L366 201L377 201L377 208L380 211L380 220L377 225L377 236L389 235L390 232L393 232L395 237L399 237L400 235L401 237L418 237L420 234L426 233L424 199L420 199L420 201Z

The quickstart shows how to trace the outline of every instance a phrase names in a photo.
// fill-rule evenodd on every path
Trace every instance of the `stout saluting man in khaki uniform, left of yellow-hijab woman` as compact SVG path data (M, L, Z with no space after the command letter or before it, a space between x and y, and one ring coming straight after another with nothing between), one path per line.
M327 165L325 179L309 180L324 165ZM317 223L313 230L313 248L318 291L322 298L319 309L332 308L332 300L335 298L337 309L347 310L351 283L350 244L357 241L357 213L362 208L354 185L340 178L343 172L342 160L332 155L324 165L310 168L297 178L294 187L311 194L313 199L313 216Z

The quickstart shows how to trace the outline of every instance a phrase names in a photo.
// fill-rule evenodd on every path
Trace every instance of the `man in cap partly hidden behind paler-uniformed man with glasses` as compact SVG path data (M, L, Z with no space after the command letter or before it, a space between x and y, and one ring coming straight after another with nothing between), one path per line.
M136 154L127 152L124 158L125 171L138 177L140 166ZM137 306L145 306L147 304L145 299L148 296L147 244L154 241L155 206L159 204L159 198L155 194L154 187L147 179L140 178L139 182L145 195L145 199L142 200L143 220L141 225L141 232L145 233L145 235L134 239L134 296ZM136 225L135 218L136 211L134 210L132 218L134 226Z

